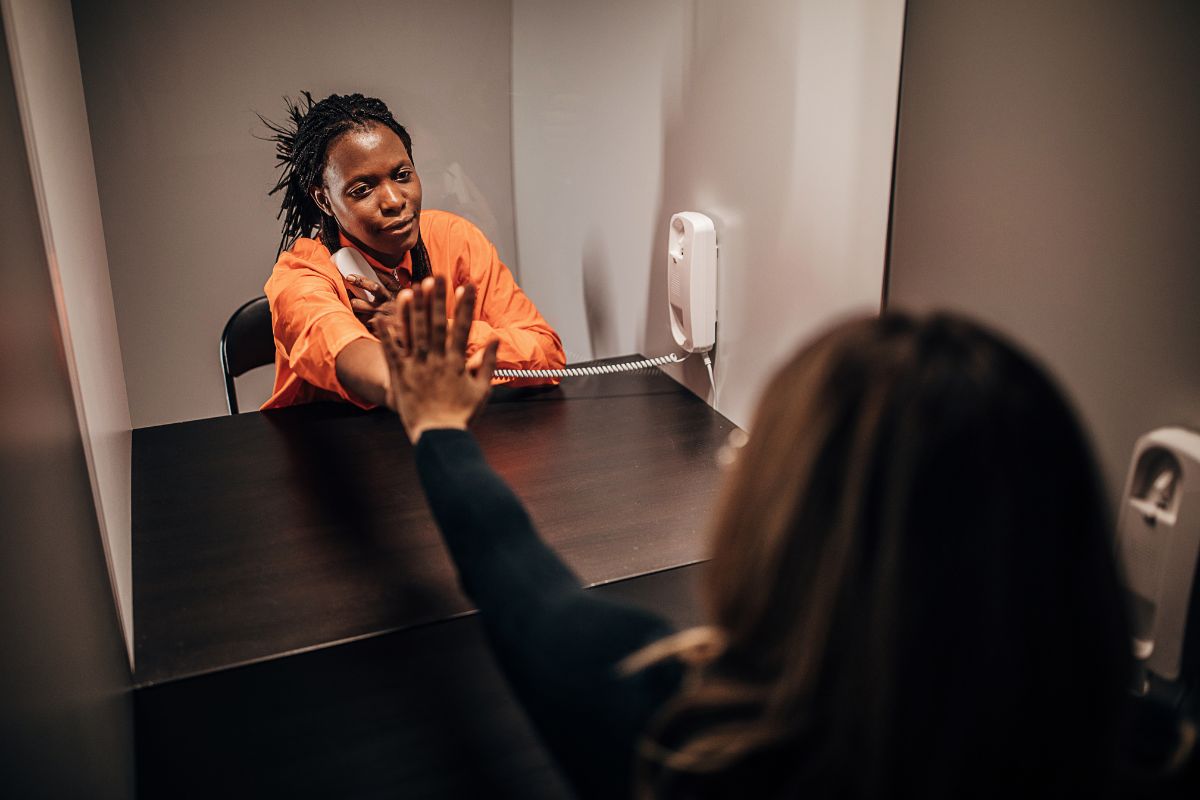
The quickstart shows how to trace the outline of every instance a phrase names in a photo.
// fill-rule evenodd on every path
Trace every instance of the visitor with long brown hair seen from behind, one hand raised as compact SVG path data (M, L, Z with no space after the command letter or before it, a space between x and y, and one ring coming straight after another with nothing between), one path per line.
M1129 637L1104 498L1045 373L960 318L835 326L763 392L708 624L584 591L466 431L472 287L404 291L386 403L499 663L582 795L1102 796Z

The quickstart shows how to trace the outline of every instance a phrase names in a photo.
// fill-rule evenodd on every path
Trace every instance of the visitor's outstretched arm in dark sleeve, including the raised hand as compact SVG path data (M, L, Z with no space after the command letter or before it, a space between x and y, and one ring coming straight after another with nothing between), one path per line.
M468 325L448 332L438 297L444 290L431 281L379 324L388 404L416 445L430 507L522 704L582 794L628 796L635 745L679 673L666 666L625 675L618 664L671 627L586 591L487 465L466 427L487 396L497 344L468 368ZM473 300L466 287L456 320L470 319Z

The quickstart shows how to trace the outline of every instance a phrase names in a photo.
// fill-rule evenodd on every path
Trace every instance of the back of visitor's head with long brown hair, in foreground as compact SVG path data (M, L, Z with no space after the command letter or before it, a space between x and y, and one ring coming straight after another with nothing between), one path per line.
M846 323L776 373L731 477L716 646L660 717L660 796L1103 780L1123 601L1086 439L1032 361L954 317Z

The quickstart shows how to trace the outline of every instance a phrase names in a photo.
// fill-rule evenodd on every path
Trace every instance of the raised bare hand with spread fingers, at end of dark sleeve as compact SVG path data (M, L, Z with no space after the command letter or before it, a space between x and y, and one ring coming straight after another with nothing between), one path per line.
M487 399L496 368L497 339L488 342L478 365L474 359L467 363L475 287L455 293L449 330L445 296L445 278L425 278L389 303L391 313L374 320L388 359L388 407L414 444L431 428L466 428Z

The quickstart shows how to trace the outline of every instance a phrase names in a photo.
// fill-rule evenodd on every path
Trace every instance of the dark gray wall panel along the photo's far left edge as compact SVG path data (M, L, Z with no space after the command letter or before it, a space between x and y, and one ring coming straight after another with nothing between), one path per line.
M0 47L4 36L0 35ZM0 794L132 798L130 666L0 53Z

